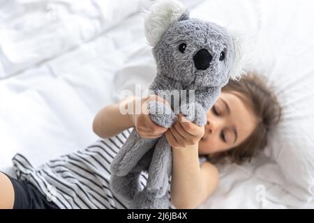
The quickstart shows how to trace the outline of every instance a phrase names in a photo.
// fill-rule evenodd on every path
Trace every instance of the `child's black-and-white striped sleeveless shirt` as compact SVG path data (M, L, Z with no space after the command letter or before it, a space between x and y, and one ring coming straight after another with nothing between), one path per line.
M130 130L125 130L115 137L99 139L83 150L50 160L38 168L17 154L13 157L17 179L32 183L59 208L128 208L126 201L112 194L109 182L110 163L129 134ZM146 172L140 176L142 188L147 176ZM170 184L167 194L170 199ZM174 208L171 202L169 208Z

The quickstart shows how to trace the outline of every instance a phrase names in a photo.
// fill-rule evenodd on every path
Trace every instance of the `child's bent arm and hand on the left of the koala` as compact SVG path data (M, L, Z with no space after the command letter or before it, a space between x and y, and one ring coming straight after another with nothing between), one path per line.
M130 97L114 104L107 105L101 109L94 118L93 130L101 138L113 137L120 132L135 127L141 137L154 139L160 137L167 129L156 125L147 112L147 102L151 100L164 101L156 95L149 95L148 98ZM133 104L134 110L130 113L123 114L120 108L128 110ZM142 109L140 114L135 114L135 105L140 105ZM142 111L141 111L142 110Z

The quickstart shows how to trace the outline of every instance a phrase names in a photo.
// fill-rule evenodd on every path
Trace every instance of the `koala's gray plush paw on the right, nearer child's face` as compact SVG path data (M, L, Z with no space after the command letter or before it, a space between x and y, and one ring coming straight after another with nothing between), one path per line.
M184 104L180 107L180 112L196 125L203 126L207 122L207 114L202 105L198 103Z

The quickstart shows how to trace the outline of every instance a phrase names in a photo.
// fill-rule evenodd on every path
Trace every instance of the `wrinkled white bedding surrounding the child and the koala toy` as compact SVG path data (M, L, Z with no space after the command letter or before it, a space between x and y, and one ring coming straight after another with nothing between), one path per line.
M304 144L313 153L311 1L189 2L195 6L192 17L252 34L253 68L276 86L284 107L296 102L305 108L298 116L293 109L285 114L281 140L294 139L299 144L292 146ZM119 91L151 82L156 68L139 14L144 5L144 0L0 1L0 167L10 166L17 152L36 166L91 144L97 139L91 130L96 112L117 101ZM299 120L306 122L296 137L288 128ZM289 178L283 165L267 158L280 147L276 135L251 164L221 167L218 190L200 208L314 208L313 187L306 192L299 185L283 187Z

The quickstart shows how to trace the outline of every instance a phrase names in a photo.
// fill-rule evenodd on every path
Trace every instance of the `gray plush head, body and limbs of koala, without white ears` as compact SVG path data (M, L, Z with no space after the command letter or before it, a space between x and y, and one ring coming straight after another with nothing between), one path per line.
M178 50L181 43L187 45L184 53ZM207 49L212 56L206 70L197 70L193 60L200 49ZM149 89L156 94L158 90L194 90L195 101L181 103L179 110L193 123L205 125L207 110L214 105L220 89L230 78L234 63L230 34L217 24L189 19L188 13L184 13L179 21L169 26L152 52L157 75ZM223 61L219 61L221 52L225 53ZM170 95L167 96L170 98ZM156 112L165 109L163 105L149 103L150 117L158 125L169 128L177 120L173 111L178 108L172 103L172 110L168 109L165 114ZM114 157L111 171L111 189L130 203L129 208L168 208L172 148L165 134L159 139L142 139L133 130ZM149 178L144 190L140 191L139 176L142 171L148 171Z

